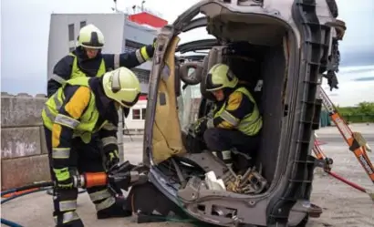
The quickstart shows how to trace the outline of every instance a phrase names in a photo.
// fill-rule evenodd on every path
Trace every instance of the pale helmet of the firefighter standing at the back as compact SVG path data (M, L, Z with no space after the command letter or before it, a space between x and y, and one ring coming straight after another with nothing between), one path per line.
M80 28L77 46L101 49L104 46L104 35L97 26L84 26Z

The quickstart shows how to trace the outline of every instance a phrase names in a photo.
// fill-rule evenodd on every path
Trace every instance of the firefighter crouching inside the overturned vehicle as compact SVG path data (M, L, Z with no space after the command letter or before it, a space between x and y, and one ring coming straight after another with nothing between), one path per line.
M196 134L203 136L208 150L229 167L233 164L233 149L253 157L263 126L255 98L224 64L211 68L206 78L206 90L215 98L213 116L205 116L196 122Z

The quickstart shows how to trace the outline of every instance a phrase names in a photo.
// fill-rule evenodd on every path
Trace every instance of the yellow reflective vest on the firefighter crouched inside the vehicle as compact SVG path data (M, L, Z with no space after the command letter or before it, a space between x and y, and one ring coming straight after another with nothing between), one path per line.
M249 98L255 104L255 98L251 95L251 93L244 87L237 88L234 92L241 92L247 98ZM215 112L213 118L221 117L230 124L234 126L234 129L238 129L242 131L245 135L254 136L256 135L260 129L263 127L263 119L260 115L257 105L255 104L254 110L252 113L247 114L244 119L236 119L233 115L225 111L226 102L223 106Z

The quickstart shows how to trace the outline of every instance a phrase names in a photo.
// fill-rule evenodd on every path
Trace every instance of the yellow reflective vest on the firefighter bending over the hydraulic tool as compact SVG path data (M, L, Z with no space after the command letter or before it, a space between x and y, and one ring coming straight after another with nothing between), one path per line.
M58 124L74 129L73 137L80 137L85 143L88 143L91 139L92 133L98 132L99 129L108 123L108 121L105 120L99 127L95 128L99 119L99 111L96 108L95 94L92 91L88 108L80 117L79 121L58 115L58 110L61 108L65 100L64 88L66 85L88 87L88 80L89 77L76 77L69 79L66 84L61 88L58 88L57 92L47 100L46 107L42 111L43 123L47 129L52 130L53 124L57 122Z

